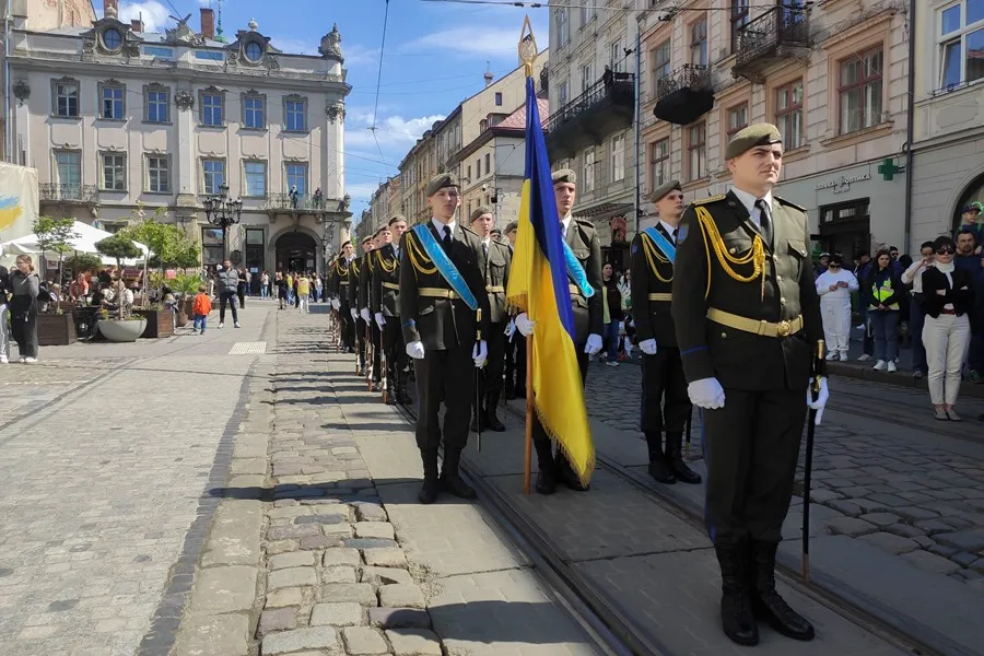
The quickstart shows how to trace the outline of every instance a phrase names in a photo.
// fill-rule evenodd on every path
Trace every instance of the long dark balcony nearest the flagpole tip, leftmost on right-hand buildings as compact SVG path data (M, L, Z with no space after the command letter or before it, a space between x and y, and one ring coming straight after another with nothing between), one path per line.
M635 75L613 73L547 119L547 150L552 161L601 143L606 137L632 126L635 115Z

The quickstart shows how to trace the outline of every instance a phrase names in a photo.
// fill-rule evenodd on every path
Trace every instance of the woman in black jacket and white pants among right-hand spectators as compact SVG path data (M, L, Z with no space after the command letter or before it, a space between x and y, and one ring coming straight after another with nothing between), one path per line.
M963 358L970 342L968 312L974 304L974 281L969 271L953 266L957 245L939 237L936 267L923 272L923 344L929 364L929 398L940 421L961 421L953 406L960 394Z

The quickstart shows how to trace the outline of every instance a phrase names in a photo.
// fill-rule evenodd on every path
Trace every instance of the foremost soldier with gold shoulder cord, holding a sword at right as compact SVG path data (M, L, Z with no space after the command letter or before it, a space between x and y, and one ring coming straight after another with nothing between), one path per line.
M803 208L772 196L782 138L739 131L725 151L734 187L691 204L677 233L672 314L691 401L703 409L705 522L722 574L725 633L759 641L755 619L796 640L813 628L775 590L808 390L823 339ZM686 274L683 273L686 272ZM815 368L816 367L816 368Z

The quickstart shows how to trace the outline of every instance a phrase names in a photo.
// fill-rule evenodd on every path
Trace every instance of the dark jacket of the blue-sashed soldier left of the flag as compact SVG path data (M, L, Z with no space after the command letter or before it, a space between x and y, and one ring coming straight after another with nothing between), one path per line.
M441 243L441 237L434 229L432 220L427 220L427 229L434 238ZM413 253L410 250L412 239ZM422 261L425 257L423 245L418 243L413 231L407 231L400 239L400 324L403 328L406 343L421 341L425 350L453 349L458 345L471 348L475 343L476 330L483 335L489 331L489 297L485 294L485 284L482 281L481 257L482 241L460 223L456 223L452 237L448 258L454 262L458 272L468 284L468 289L478 301L482 311L481 323L477 323L475 311L460 298L437 298L423 296L420 290L424 288L450 290L450 285L436 270L431 261ZM411 260L411 256L418 259L429 272L419 271Z

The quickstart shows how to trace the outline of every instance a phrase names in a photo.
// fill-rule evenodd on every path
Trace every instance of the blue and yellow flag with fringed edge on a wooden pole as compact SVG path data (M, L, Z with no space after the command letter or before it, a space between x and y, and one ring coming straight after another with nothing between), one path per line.
M532 333L534 406L547 434L587 484L595 446L574 350L574 312L550 161L532 78L526 79L526 179L506 296L536 323Z

